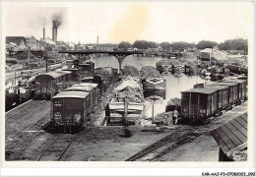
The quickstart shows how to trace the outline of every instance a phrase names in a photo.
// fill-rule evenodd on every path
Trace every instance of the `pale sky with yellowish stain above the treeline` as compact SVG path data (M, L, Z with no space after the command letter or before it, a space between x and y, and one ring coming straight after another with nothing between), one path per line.
M60 16L58 40L119 43L138 39L223 42L253 33L251 2L59 2L3 4L6 36L52 36L52 18Z

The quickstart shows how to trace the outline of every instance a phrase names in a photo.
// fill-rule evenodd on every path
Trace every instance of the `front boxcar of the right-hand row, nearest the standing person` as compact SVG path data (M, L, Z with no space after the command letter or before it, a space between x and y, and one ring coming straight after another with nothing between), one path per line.
M202 88L181 91L181 114L189 124L202 124L218 109L218 89Z

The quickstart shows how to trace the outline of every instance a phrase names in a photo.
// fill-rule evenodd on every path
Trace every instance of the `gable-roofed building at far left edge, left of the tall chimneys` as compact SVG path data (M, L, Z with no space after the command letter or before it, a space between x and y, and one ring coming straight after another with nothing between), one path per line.
M25 50L27 49L27 42L24 36L6 36L6 49Z

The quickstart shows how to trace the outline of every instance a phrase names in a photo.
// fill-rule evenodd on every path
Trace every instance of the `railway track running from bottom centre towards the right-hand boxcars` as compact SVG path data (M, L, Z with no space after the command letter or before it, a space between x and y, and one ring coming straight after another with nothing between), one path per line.
M195 127L179 128L178 130L175 130L175 132L173 132L172 134L169 134L168 136L164 137L153 145L144 148L143 150L129 157L125 161L156 160L156 158L160 157L162 154L173 148L174 145L182 140L187 139L189 135L197 129L198 128Z

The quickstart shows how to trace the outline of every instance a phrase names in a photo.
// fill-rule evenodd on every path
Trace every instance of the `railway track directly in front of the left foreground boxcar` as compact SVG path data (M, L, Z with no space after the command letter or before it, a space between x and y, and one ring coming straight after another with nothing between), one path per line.
M64 155L66 150L70 147L75 135L71 134L60 134L58 135L51 144L39 155L37 161L59 161Z

